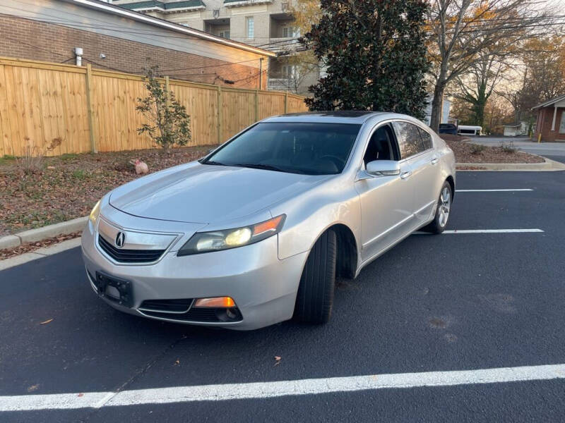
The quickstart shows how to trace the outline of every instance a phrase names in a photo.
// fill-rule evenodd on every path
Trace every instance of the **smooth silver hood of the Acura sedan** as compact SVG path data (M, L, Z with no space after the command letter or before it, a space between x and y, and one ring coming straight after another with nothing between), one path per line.
M254 214L326 178L193 162L122 185L109 202L133 216L215 223Z

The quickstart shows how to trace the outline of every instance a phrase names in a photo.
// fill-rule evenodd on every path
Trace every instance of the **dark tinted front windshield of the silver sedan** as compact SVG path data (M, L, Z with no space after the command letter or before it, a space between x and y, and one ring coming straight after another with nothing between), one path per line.
M202 163L307 175L340 173L359 128L350 123L258 123Z

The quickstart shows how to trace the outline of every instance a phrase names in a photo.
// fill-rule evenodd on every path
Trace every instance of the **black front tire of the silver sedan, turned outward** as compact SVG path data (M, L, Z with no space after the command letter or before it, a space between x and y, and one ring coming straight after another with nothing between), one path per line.
M295 319L321 324L329 321L335 289L335 232L326 231L316 241L304 265L295 304Z

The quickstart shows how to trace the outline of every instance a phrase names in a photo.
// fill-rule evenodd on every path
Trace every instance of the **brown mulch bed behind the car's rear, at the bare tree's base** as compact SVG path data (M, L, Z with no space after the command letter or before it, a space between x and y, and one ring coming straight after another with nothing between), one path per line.
M457 163L542 163L544 159L533 154L518 152L512 142L504 142L499 147L473 144L467 137L441 134L451 147Z

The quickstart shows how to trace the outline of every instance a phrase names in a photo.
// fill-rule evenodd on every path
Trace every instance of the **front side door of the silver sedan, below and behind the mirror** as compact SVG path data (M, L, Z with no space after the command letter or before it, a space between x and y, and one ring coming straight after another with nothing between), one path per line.
M379 159L400 161L400 175L376 176L355 183L361 204L363 262L402 238L415 224L410 161L401 160L396 136L388 123L372 133L363 166Z

